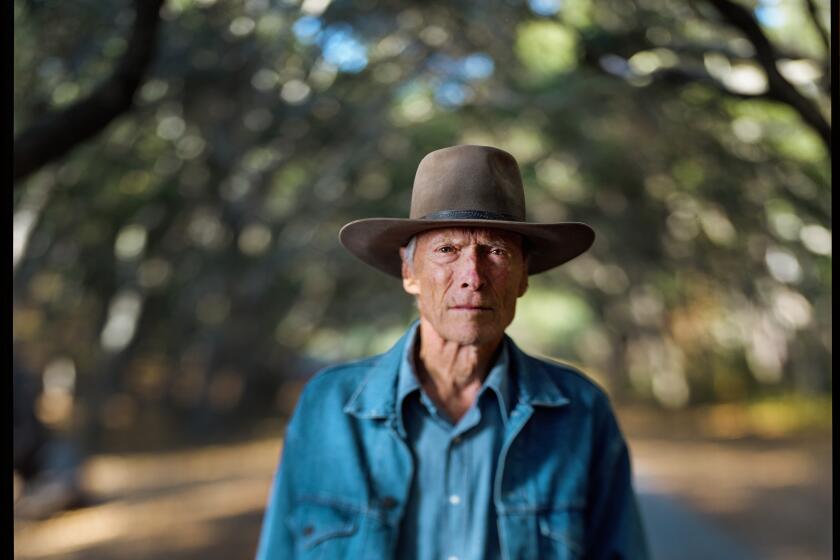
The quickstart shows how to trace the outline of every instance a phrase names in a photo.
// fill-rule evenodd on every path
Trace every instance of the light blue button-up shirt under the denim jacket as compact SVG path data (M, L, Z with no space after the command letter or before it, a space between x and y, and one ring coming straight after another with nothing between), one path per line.
M503 341L476 401L453 424L422 390L413 359L416 326L409 336L397 380L397 416L415 473L397 558L499 558L493 480L510 410L507 347Z

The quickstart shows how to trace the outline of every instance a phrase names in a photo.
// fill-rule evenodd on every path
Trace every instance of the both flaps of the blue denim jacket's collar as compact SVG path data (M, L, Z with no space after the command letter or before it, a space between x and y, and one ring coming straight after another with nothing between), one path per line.
M405 345L414 324L370 366L359 388L344 406L344 412L358 418L396 418L397 379ZM540 360L525 354L505 335L512 370L517 377L514 402L528 406L562 406L569 402Z

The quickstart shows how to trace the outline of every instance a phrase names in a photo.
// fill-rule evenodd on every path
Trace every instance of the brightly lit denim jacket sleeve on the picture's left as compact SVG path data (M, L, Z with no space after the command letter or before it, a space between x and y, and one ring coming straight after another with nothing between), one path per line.
M301 398L301 400L303 400ZM289 516L294 507L293 483L295 458L300 457L298 444L299 403L286 427L283 451L272 481L268 506L263 516L262 532L257 547L257 560L285 560L295 557L295 535L289 526Z

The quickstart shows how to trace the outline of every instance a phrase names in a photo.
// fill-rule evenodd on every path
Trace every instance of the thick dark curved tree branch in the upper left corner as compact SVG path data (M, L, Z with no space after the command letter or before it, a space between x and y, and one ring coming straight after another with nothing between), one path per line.
M164 0L135 0L128 46L111 76L88 97L50 113L21 132L14 143L15 185L44 165L96 136L131 108L152 60Z

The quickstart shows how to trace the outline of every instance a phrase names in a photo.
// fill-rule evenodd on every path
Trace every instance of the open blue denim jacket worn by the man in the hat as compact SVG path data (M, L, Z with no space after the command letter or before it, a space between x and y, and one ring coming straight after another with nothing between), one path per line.
M257 558L395 556L413 458L395 410L406 337L301 395ZM502 558L646 559L630 458L604 392L506 337L515 398L493 485Z

